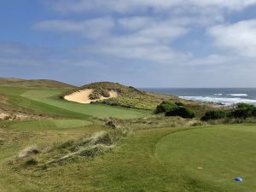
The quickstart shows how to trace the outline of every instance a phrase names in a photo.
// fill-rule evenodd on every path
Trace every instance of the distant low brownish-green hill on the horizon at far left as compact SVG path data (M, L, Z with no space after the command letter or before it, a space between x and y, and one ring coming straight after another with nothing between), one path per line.
M66 88L73 89L75 86L71 84L65 84L55 80L49 79L12 79L12 78L0 78L0 85L5 86L23 86L23 87L52 87L52 88Z

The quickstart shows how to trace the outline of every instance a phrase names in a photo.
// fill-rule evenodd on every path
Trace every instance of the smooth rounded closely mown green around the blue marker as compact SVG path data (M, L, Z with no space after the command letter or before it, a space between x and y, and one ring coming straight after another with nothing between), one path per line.
M170 172L219 187L255 191L256 125L221 125L163 137L155 156ZM235 182L243 177L243 182Z

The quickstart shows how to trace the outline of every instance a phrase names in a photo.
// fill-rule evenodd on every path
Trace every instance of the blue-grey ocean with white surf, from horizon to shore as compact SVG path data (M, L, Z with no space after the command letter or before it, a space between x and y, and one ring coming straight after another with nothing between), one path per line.
M238 102L256 106L256 88L147 88L142 90L198 102L222 103L226 106Z

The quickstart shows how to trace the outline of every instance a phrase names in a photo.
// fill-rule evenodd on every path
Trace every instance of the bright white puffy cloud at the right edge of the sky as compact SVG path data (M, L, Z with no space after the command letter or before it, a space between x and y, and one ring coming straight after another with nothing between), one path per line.
M208 30L214 44L231 54L256 57L256 20L213 26Z

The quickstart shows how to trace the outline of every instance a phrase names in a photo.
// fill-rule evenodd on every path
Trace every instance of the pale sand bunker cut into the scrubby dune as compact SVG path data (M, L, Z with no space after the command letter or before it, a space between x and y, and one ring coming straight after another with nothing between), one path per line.
M67 101L70 101L70 102L90 103L90 102L96 102L96 101L109 99L109 98L118 96L118 93L116 91L111 90L111 91L108 91L109 95L110 95L109 97L101 96L100 99L91 100L89 98L91 92L92 92L92 89L79 90L79 91L74 92L68 96L64 96L64 99L66 99Z

